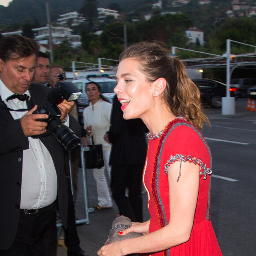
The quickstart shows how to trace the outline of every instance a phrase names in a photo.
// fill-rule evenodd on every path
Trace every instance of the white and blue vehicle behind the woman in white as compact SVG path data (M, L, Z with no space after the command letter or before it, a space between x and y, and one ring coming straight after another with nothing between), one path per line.
M88 75L86 78L75 79L72 82L78 87L81 91L81 95L77 100L78 112L80 115L83 115L83 110L89 105L90 100L87 97L85 86L90 81L98 83L101 87L102 94L109 100L110 103L113 103L113 98L115 96L114 88L117 85L116 79L109 77L108 75Z

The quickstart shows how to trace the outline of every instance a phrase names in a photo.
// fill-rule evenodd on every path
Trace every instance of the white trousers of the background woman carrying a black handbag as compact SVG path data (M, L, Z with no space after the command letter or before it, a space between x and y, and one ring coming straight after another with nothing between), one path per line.
M112 207L112 201L109 195L109 185L105 176L106 169L110 179L111 166L109 166L109 156L110 151L103 151L105 166L101 169L92 169L98 192L98 205L101 207Z

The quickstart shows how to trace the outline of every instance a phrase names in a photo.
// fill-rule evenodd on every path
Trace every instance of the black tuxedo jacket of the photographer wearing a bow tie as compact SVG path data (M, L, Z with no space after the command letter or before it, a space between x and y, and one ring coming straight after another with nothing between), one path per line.
M47 95L52 90L41 84L31 83L29 91L34 104L44 106ZM0 99L1 100L1 99ZM81 126L69 115L69 127L80 136ZM68 190L64 172L64 148L49 133L40 137L48 149L57 174L57 196L60 215L67 226ZM19 222L22 182L23 150L29 148L20 121L14 120L8 109L0 106L0 249L11 247Z

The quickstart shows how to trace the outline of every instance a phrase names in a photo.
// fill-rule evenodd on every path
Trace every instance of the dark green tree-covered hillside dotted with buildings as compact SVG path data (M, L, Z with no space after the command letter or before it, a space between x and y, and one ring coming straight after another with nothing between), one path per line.
M256 15L246 17L245 12L242 16L241 11L234 11L234 16L237 16L229 18L227 11L232 9L230 0L212 0L210 4L191 0L188 4L175 6L172 5L173 0L163 0L162 10L152 9L155 2L157 0L49 0L53 25L60 14L69 11L78 11L86 18L84 24L72 26L74 33L81 35L81 47L74 49L69 41L64 40L54 51L55 64L68 68L72 61L96 63L98 57L118 59L124 49L124 25L128 45L137 41L158 40L169 49L177 46L222 55L226 50L226 39L256 44ZM253 5L253 2L250 1L250 4ZM97 7L117 10L120 16L118 19L108 16L104 22L99 22ZM162 15L162 12L168 14ZM151 19L146 20L145 15L148 14ZM0 32L19 29L33 38L32 28L45 24L45 0L13 0L8 7L0 5ZM190 26L204 31L203 45L188 43L185 31ZM98 30L102 30L101 35L94 34ZM254 52L252 47L244 45L232 47L235 54ZM198 53L188 51L180 51L179 56L200 57Z

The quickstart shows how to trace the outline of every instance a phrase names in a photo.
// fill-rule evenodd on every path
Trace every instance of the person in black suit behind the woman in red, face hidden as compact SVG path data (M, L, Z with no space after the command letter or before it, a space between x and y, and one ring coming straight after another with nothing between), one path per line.
M125 120L117 95L113 99L109 132L105 139L112 143L109 159L112 196L120 215L133 222L143 222L142 173L146 160L146 125L141 119ZM128 188L128 197L125 195Z

